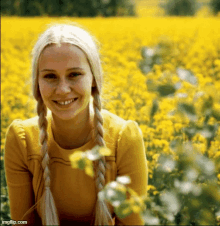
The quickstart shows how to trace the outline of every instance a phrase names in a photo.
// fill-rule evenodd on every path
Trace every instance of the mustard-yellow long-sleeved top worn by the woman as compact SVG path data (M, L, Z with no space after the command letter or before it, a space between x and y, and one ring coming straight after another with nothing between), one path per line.
M125 121L102 110L104 140L112 151L106 161L106 183L116 176L128 175L128 185L139 195L147 192L148 171L143 137L137 123ZM66 225L89 225L97 194L94 178L83 170L73 169L69 157L77 150L86 151L94 146L92 140L81 148L61 148L53 138L51 117L48 117L48 153L50 156L51 191L58 210L60 223ZM9 126L5 144L5 172L9 191L11 218L22 219L24 213L34 205L44 191L41 166L38 117L14 120ZM116 225L144 225L138 214L120 219L113 213ZM28 225L41 225L39 209L24 220ZM74 224L75 223L75 224Z

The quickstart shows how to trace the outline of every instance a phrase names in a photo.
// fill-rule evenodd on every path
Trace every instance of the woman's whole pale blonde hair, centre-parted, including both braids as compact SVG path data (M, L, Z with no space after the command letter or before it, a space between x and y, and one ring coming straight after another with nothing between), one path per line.
M59 225L59 217L53 195L50 189L49 155L47 148L47 108L43 103L38 84L38 60L42 51L51 44L61 45L69 43L79 47L87 56L91 67L96 86L92 89L94 108L94 128L93 139L99 146L105 146L103 139L103 119L101 115L101 88L102 69L98 47L95 39L85 29L78 25L58 24L47 29L38 39L33 49L32 79L33 95L37 100L37 113L39 116L40 143L42 154L42 168L44 171L45 190L40 199L41 220L43 225ZM96 162L96 190L101 191L105 185L105 158ZM37 203L36 203L37 204ZM36 205L35 204L35 205ZM34 205L34 206L35 206ZM33 206L33 207L34 207ZM32 208L33 208L32 207ZM31 208L31 209L32 209ZM26 213L27 214L27 213ZM26 215L25 214L25 215ZM97 196L94 218L91 224L108 225L112 222L112 216L105 201L99 200Z

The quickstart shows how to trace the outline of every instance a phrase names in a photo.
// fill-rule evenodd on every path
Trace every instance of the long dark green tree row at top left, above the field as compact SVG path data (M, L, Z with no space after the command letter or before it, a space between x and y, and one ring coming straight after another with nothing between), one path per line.
M134 7L134 2L130 0L8 0L1 3L1 15L134 16Z

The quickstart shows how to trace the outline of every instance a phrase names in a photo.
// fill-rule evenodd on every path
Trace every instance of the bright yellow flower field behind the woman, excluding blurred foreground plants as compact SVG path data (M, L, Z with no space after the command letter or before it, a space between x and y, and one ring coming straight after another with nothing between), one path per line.
M70 19L3 17L1 20L3 161L6 128L16 118L26 119L36 114L31 92L31 49L47 24ZM175 155L170 144L180 137L190 140L193 148L209 159L219 158L220 129L212 127L220 121L219 18L72 18L71 21L81 24L100 42L103 107L124 119L137 121L143 132L149 191L157 194L152 181L159 156ZM161 60L151 60L149 64L145 60L148 68L141 67L146 54L152 56L158 48ZM186 81L188 75L181 76L177 68L183 73L190 72L195 82ZM161 98L158 92L153 92L155 86L164 84L178 86L172 97ZM180 102L193 106L194 110L186 111L185 115L176 112ZM154 113L152 106L157 106ZM209 114L210 109L213 114ZM192 121L197 126L205 121L210 129L200 133L184 130L194 128ZM220 167L215 170L220 184Z

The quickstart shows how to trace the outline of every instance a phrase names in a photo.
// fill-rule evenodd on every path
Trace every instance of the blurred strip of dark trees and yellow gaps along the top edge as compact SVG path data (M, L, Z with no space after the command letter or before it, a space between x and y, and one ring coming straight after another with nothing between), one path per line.
M219 0L4 0L1 2L1 15L74 17L208 16L218 14L219 4Z

